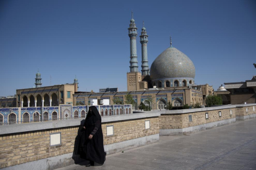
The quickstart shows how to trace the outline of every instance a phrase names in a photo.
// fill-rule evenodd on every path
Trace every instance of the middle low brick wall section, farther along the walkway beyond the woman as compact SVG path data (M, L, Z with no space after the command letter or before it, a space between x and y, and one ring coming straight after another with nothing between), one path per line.
M236 106L161 111L160 136L187 134L236 121Z

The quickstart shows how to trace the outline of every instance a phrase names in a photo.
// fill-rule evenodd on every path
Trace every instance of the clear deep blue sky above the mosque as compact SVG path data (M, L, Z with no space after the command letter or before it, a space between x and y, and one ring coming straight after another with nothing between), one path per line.
M195 65L195 83L216 90L256 75L256 1L0 1L0 96L35 86L73 83L79 91L126 91L134 12L148 32L149 65L169 47ZM141 44L137 37L141 70ZM51 76L51 81L50 81Z

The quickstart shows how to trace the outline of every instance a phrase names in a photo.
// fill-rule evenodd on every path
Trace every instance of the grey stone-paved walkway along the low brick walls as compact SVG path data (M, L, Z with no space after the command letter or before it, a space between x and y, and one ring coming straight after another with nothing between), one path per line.
M187 136L106 157L103 166L74 164L66 169L256 169L256 119L237 121Z

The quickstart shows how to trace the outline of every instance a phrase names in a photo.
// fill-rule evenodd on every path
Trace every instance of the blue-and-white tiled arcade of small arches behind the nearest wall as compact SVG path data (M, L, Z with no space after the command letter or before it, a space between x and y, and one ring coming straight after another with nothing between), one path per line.
M52 120L61 120L61 119L74 119L75 111L78 111L78 118L84 118L88 112L90 106L88 105L59 105L59 107L12 107L12 108L0 108L0 124L18 124L18 123L33 123L35 120L33 118L35 113L37 115L38 121L52 121ZM112 116L125 115L132 113L132 105L95 105L98 109L100 115L101 110L103 109L103 115L101 116ZM108 115L105 114L105 111L108 111ZM84 112L83 112L84 111ZM121 111L121 112L120 112ZM44 113L48 113L48 119L44 117ZM85 113L82 116L82 112ZM27 119L23 119L24 113L28 113ZM38 113L38 114L37 114ZM56 113L55 119L53 119L53 113ZM11 115L11 116L10 116Z

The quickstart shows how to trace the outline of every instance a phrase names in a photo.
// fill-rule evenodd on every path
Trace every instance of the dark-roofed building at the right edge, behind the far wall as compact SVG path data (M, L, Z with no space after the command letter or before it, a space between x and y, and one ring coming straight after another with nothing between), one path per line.
M224 87L230 92L230 103L244 104L256 103L256 76L251 80L236 83L224 83Z

